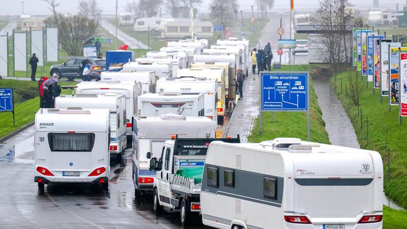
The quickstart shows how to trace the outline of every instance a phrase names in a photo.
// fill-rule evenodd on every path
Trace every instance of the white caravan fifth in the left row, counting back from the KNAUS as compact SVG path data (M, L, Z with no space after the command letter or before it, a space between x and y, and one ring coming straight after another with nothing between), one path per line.
M123 65L123 70L133 71L155 71L159 79L172 77L172 62L158 63L158 62L129 62Z

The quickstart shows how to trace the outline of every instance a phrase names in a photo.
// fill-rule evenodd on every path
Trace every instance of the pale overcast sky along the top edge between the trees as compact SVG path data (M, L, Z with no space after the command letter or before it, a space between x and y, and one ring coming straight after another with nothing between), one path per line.
M103 8L103 13L113 14L115 7L115 0L97 0L100 2L100 6ZM119 13L126 11L126 3L131 0L119 0ZM238 0L241 8L244 10L249 10L250 6L255 2L255 0ZM22 1L10 1L10 0L0 0L0 15L18 15L21 14L21 2ZM61 5L56 9L61 13L76 13L79 0L57 0ZM206 12L211 0L203 0L203 3L200 9L203 12ZM289 0L275 0L276 9L288 9ZM359 7L368 8L372 6L373 0L351 0L353 4L357 4ZM405 4L405 0L379 0L380 4L385 5L386 7L395 8L395 3L399 3L400 7ZM318 0L294 0L296 9L307 8L313 9L318 4ZM25 14L47 14L49 9L48 5L42 0L25 0L24 1L24 13Z

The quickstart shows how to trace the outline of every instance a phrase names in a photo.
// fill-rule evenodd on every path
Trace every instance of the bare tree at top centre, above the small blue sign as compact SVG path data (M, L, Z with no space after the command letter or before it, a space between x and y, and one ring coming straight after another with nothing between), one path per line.
M219 21L223 27L232 23L239 12L237 0L212 0L209 6L213 20Z

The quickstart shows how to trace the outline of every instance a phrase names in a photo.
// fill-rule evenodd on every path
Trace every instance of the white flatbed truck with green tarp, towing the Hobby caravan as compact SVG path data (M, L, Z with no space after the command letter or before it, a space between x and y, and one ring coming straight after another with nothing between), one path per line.
M203 165L212 141L240 143L240 138L239 135L237 138L223 139L176 136L173 140L165 141L158 159L151 159L150 170L158 172L154 179L153 210L156 214L161 212L163 207L180 209L183 225L188 224L193 215L198 216ZM151 153L148 153L147 158L151 158Z

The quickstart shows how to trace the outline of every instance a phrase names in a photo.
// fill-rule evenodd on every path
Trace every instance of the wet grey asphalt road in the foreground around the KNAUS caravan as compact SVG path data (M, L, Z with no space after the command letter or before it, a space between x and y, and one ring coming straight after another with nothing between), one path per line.
M152 195L135 199L131 150L111 160L109 189L91 184L34 182L34 127L0 144L0 228L206 228L200 218L182 227L179 211L155 216Z

